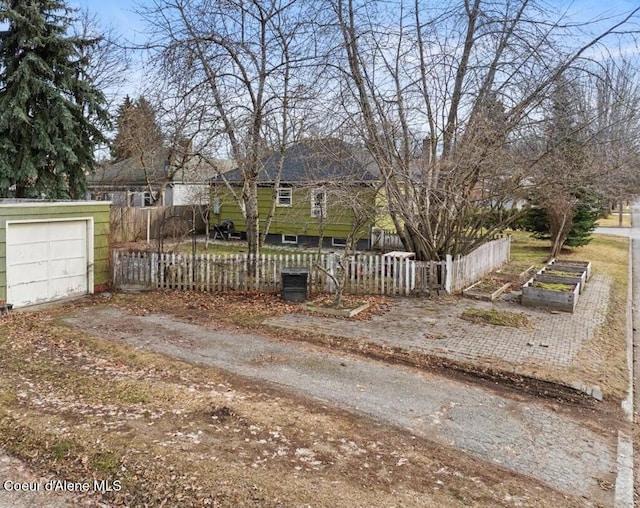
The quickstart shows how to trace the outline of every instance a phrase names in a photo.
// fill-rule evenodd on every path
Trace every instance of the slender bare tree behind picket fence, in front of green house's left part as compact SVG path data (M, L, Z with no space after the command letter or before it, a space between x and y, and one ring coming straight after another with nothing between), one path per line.
M298 101L307 95L302 68L313 44L303 11L303 0L159 0L143 13L161 72L169 83L181 83L184 100L196 97L200 106L200 145L206 140L209 151L223 152L241 172L242 189L233 194L252 255L261 240L261 160L295 138ZM274 193L277 185L278 179Z

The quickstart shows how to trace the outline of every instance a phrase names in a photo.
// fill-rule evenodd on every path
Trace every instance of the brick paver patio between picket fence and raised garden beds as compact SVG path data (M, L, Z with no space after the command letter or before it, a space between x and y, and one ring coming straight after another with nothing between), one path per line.
M578 352L588 347L595 329L605 319L610 279L594 274L573 314L523 307L518 302L484 302L466 298L398 298L389 312L368 321L305 314L268 318L265 324L325 335L364 339L451 360L491 366L516 373L523 367L570 367ZM468 308L498 308L526 314L532 328L474 324L460 319ZM594 358L592 361L598 361ZM595 365L593 367L596 367ZM567 383L574 380L567 379Z

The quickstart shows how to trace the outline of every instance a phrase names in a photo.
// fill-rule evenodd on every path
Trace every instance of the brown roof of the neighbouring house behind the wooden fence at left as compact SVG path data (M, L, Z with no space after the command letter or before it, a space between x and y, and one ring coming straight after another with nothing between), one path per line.
M90 187L153 186L162 183L167 176L171 176L171 183L204 183L234 167L233 161L206 159L198 154L187 156L184 162L172 165L171 151L163 148L145 154L144 158L130 157L105 164L87 176L87 183Z

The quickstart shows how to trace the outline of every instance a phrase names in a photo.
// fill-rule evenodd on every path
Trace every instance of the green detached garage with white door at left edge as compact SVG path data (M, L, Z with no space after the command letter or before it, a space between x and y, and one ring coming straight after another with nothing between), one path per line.
M1 299L22 307L106 287L109 206L0 201Z

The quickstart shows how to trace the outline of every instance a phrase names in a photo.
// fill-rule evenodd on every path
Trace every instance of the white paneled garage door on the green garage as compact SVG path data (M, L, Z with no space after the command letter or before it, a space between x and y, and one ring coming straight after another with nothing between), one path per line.
M8 303L86 294L87 266L87 221L7 224Z

